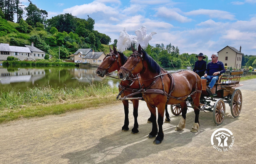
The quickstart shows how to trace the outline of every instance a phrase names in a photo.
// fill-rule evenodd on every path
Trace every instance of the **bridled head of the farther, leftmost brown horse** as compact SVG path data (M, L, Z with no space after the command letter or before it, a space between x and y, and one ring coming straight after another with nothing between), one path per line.
M96 73L99 77L104 77L104 75L107 75L109 72L119 70L122 66L120 54L117 52L115 46L113 46L113 49L109 46L110 53L105 56L102 63L97 68Z

